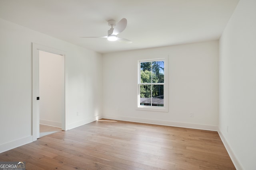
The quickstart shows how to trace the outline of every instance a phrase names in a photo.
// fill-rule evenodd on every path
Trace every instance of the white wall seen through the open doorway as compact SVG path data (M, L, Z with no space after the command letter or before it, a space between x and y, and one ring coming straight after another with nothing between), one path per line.
M39 51L40 124L62 127L62 115L65 114L64 57Z

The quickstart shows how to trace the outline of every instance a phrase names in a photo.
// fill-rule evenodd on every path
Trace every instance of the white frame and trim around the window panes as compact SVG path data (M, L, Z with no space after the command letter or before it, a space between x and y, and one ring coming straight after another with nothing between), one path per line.
M164 106L142 106L140 105L140 63L153 62L153 61L164 61ZM157 83L156 83L157 84ZM161 111L168 112L168 57L159 59L146 59L138 61L138 86L137 86L137 109L145 111Z

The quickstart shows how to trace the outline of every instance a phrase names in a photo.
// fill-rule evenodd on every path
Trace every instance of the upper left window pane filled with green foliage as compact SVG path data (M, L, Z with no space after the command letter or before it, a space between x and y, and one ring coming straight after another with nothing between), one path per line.
M140 63L140 83L151 83L151 62Z

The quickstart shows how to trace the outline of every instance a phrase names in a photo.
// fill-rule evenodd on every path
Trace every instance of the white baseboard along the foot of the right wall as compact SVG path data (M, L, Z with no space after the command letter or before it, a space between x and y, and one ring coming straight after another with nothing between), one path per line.
M228 144L228 141L225 139L224 135L221 133L221 131L218 131L220 139L222 140L222 143L224 144L226 150L228 151L228 154L234 164L234 166L236 167L236 170L244 170L244 168L242 168L242 164L239 162L239 160L236 157L236 154L234 154L233 150L231 149L230 145Z

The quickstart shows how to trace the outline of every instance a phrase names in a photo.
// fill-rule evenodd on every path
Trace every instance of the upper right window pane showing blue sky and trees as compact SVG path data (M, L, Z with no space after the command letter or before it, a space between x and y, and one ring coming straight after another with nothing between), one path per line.
M152 62L152 82L164 83L164 61Z

